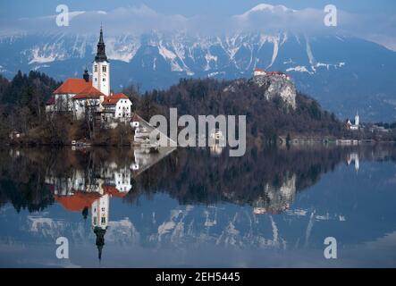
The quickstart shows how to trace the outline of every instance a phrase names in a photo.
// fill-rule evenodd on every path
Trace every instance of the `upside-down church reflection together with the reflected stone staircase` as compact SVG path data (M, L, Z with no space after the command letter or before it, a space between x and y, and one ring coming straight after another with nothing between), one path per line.
M110 219L110 199L124 198L132 189L132 178L139 176L152 165L173 152L172 147L163 147L155 154L149 149L133 149L134 160L122 166L105 162L100 167L73 168L67 176L46 174L46 185L55 200L67 211L81 212L87 219L90 210L92 231L95 233L98 257L102 257L105 232Z

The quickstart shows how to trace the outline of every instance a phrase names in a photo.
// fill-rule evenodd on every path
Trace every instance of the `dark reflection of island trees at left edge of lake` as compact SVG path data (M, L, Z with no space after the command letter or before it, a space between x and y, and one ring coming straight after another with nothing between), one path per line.
M54 203L54 189L71 191L72 178L80 176L86 188L95 188L100 167L112 162L130 164L131 150L0 149L0 157L0 206L11 203L17 211L32 212Z

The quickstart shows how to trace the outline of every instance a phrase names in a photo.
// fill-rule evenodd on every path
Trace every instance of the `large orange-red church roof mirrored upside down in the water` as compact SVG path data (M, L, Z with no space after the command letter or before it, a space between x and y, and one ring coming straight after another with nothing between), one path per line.
M72 196L54 196L55 200L70 212L82 211L85 207L90 207L100 194L97 192L86 193L77 192Z

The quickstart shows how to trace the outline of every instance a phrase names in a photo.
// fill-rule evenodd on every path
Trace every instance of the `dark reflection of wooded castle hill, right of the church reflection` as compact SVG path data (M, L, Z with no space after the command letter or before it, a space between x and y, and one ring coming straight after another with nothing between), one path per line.
M278 213L287 209L295 193L320 180L325 172L347 163L351 152L361 159L396 159L392 147L291 147L250 149L246 156L213 157L208 149L179 149L163 162L136 178L127 197L165 191L181 204L215 204L226 201L249 204L257 212ZM258 209L261 208L261 209Z

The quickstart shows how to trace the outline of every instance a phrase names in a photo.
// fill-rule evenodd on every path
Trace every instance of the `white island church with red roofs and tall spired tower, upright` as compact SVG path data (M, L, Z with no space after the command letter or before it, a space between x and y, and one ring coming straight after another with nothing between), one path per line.
M92 78L86 69L82 79L65 80L46 102L46 112L72 113L76 119L83 119L87 112L94 112L100 114L102 122L114 128L118 122L131 121L131 106L129 97L111 91L110 62L105 55L103 30L100 28Z

